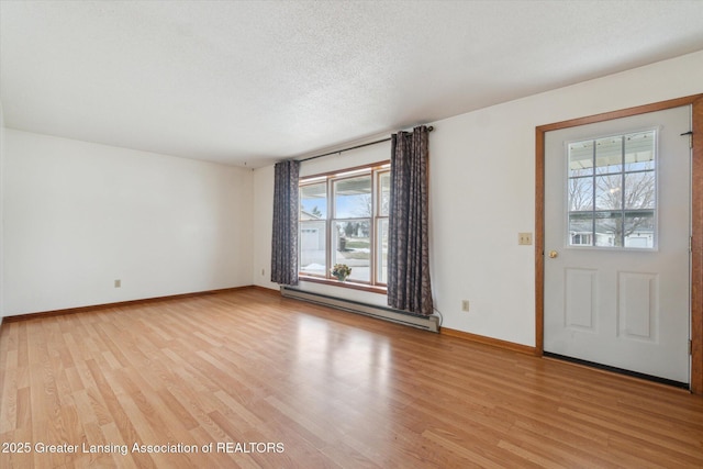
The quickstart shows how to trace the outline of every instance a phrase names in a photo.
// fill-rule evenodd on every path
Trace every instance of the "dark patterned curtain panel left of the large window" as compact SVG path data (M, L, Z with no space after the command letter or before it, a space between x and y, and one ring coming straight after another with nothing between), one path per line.
M299 168L293 160L275 166L271 281L280 284L298 284Z

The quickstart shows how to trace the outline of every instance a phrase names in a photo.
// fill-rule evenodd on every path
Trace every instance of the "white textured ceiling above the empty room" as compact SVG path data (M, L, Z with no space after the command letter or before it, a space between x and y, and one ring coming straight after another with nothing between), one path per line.
M703 49L703 1L1 1L5 126L232 165Z

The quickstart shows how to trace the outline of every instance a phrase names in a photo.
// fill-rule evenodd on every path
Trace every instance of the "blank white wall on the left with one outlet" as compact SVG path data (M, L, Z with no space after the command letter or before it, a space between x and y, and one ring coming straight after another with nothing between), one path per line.
M4 139L5 315L252 283L250 170L10 129Z

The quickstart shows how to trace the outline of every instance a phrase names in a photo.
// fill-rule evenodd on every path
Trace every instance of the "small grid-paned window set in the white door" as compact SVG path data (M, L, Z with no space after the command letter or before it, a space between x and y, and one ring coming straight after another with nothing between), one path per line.
M570 246L654 248L656 131L568 145Z

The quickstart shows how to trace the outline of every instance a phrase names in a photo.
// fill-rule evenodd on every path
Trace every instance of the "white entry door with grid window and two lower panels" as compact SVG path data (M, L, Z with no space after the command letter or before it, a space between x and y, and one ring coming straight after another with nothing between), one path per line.
M690 123L546 133L545 351L690 382Z

